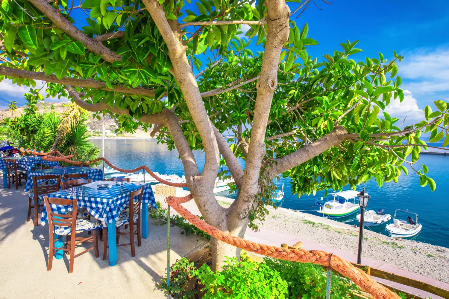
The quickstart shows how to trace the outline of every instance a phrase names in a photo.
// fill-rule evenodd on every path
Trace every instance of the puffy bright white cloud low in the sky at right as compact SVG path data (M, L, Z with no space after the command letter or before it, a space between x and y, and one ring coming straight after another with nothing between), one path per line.
M413 97L412 93L408 90L404 90L404 100L399 101L399 97L396 100L391 100L390 104L385 107L384 110L391 117L397 117L399 119L407 117L408 120L424 119L424 111L418 107L418 102Z

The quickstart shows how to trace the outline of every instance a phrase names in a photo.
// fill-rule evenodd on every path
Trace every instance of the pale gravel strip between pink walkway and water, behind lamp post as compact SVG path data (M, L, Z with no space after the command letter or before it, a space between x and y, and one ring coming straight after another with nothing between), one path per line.
M313 222L311 215L285 208L269 207L269 215L260 227L305 238L323 245L357 254L358 231L351 225L323 219L328 225ZM339 227L336 227L339 226ZM449 249L428 243L391 238L365 230L363 256L383 261L410 272L449 283Z

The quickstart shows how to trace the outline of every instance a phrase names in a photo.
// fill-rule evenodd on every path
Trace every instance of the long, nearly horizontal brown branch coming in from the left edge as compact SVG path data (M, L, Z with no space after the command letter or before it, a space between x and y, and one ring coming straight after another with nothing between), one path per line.
M107 91L117 91L133 95L148 95L150 97L154 97L155 92L155 89L148 89L144 87L128 88L124 86L115 86L114 89L110 89L109 87L106 86L106 82L103 81L97 81L92 79L66 78L66 77L58 79L55 75L45 76L44 73L32 72L22 69L13 69L1 65L0 65L0 75L33 79L33 80L42 80L46 82L59 83L64 85L75 85L95 89L103 89Z

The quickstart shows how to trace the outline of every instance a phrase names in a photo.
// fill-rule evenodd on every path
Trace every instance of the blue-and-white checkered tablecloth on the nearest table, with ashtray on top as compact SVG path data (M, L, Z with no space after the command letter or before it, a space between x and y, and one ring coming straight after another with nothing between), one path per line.
M97 185L110 184L106 190L99 190ZM129 193L136 191L142 186L137 182L93 182L90 184L76 186L66 190L60 190L50 193L49 197L57 197L62 199L78 199L77 208L84 207L89 214L104 223L111 223L119 219L120 212L129 205ZM137 196L135 197L137 200ZM157 208L154 199L151 184L146 183L142 195L142 204L151 204ZM51 204L50 208L53 213L63 214L70 212L72 206ZM47 210L44 208L40 218L40 224L45 225L48 222Z

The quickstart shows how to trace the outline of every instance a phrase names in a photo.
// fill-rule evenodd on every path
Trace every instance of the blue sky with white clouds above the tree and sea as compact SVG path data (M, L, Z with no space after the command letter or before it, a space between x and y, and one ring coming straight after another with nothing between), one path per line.
M297 14L291 17L299 27L307 22L309 37L319 42L308 48L309 55L321 61L323 54L341 50L339 43L358 39L357 48L363 52L353 56L356 61L364 61L365 56L378 57L378 52L390 60L393 50L404 56L398 64L398 75L403 79L405 99L402 103L393 100L386 111L393 117L407 116L406 123L422 120L424 107L433 108L435 100L449 101L449 1L315 1L320 9L312 2L299 18ZM299 5L288 4L292 11ZM185 8L198 11L196 7ZM81 10L74 10L72 16L78 27L86 25ZM251 47L255 49L255 40ZM27 90L8 80L0 82L0 97L19 104L23 104L22 94Z

